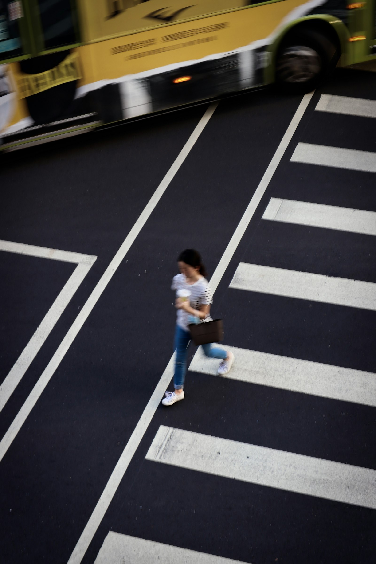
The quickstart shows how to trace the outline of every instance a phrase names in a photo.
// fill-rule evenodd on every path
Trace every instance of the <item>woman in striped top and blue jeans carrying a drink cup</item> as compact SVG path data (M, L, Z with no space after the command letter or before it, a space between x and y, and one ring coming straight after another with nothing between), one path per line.
M186 249L179 255L178 265L180 274L172 279L172 290L186 290L187 298L177 298L175 307L178 310L175 328L174 347L176 349L174 388L175 391L166 391L166 398L162 400L163 406L172 406L173 403L184 399L184 379L187 371L187 346L191 339L188 325L194 323L194 318L200 321L211 321L210 305L213 303L213 294L206 280L205 266L202 264L197 250ZM184 293L184 292L183 292ZM232 352L224 351L211 345L202 345L206 356L221 359L218 374L227 374L234 362Z

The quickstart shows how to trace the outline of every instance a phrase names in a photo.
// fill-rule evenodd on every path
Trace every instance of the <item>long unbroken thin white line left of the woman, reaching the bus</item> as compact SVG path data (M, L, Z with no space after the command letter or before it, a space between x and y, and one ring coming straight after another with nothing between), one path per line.
M126 236L126 239L123 241L120 249L117 251L116 255L109 263L108 267L104 271L104 274L101 276L98 284L90 294L85 305L82 307L82 310L77 315L77 318L73 321L73 324L68 330L68 333L63 338L63 341L61 341L59 347L57 347L54 356L52 356L50 362L47 364L47 367L39 377L39 380L37 381L36 385L33 387L33 390L30 392L25 403L23 404L20 411L17 413L16 417L14 418L14 421L12 421L10 428L6 431L4 437L2 438L0 442L0 461L3 459L5 453L7 452L8 448L11 446L17 433L23 426L26 417L28 417L30 411L32 411L33 407L37 403L43 390L47 386L48 382L51 380L51 377L53 376L55 370L59 366L61 360L63 360L66 352L68 351L70 345L72 345L72 342L76 338L82 325L89 317L96 302L98 302L98 299L100 298L104 289L107 287L107 284L112 279L112 276L114 275L117 268L121 264L126 253L130 249L130 246L132 245L132 243L134 243L134 240L138 236L144 224L147 222L147 219L149 218L152 211L158 204L158 201L160 201L167 186L169 186L172 178L174 178L180 166L182 166L185 158L189 154L189 151L191 151L192 147L194 146L194 143L196 143L205 125L210 120L210 117L213 115L213 112L217 105L218 103L211 104L210 107L206 110L204 116L202 116L200 122L198 122L192 135L189 137L187 143L185 143L182 151L180 151L178 157L176 157L174 163L172 164L170 170L167 172L165 178L163 178L162 182L158 186L157 190L154 192L148 204L145 206L144 210L140 214L136 223L131 228L130 232Z

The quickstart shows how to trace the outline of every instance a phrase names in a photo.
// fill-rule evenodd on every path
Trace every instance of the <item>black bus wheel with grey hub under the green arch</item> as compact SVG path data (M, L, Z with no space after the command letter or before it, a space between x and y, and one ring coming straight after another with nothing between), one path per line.
M277 52L276 83L286 92L311 92L330 76L339 55L339 46L321 32L291 33Z

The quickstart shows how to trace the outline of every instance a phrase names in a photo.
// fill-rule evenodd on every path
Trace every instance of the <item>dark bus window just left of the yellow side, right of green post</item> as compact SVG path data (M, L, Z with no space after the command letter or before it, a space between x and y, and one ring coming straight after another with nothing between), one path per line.
M38 8L45 49L78 43L76 10L71 0L38 0Z

